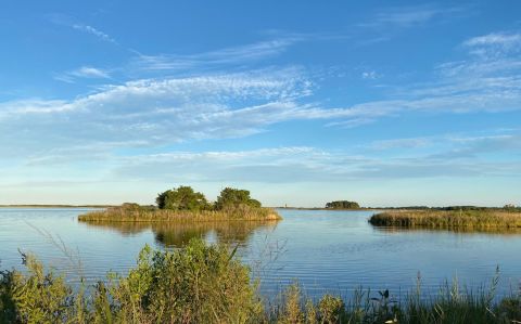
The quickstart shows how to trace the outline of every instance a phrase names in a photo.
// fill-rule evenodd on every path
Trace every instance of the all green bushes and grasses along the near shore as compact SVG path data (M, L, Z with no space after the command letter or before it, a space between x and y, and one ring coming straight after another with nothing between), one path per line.
M521 296L488 289L441 287L422 296L420 285L402 300L387 290L358 290L350 300L306 298L291 285L274 302L258 294L258 281L236 259L236 249L192 239L185 249L144 247L126 276L71 287L23 255L27 271L0 272L0 323L517 323Z

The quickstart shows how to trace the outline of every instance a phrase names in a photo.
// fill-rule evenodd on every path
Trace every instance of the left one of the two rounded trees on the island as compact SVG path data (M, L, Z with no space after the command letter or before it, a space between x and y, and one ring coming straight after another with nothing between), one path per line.
M196 211L208 208L204 194L194 192L191 186L186 185L160 193L155 203L160 209Z

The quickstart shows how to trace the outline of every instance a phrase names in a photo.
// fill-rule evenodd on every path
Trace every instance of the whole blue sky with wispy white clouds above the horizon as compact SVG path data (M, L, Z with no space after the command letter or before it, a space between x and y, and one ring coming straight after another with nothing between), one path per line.
M520 1L4 1L0 204L521 205Z

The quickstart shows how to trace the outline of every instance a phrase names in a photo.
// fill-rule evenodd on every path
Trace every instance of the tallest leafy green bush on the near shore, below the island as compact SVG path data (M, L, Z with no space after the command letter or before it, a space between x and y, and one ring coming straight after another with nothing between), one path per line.
M249 269L224 246L192 239L182 251L143 249L110 288L120 323L252 323L262 311Z

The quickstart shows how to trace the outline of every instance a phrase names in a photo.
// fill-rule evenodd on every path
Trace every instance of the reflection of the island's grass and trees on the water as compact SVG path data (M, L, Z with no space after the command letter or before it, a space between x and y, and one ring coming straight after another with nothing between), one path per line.
M182 247L192 237L208 238L215 235L224 244L244 245L247 238L259 230L275 230L277 220L229 221L229 222L82 222L88 226L116 231L123 235L135 235L145 231L154 233L155 241L165 247Z

